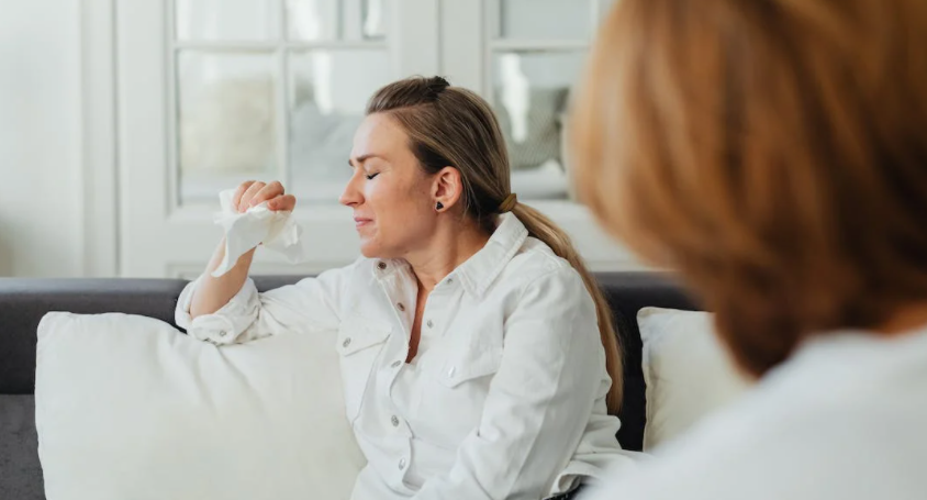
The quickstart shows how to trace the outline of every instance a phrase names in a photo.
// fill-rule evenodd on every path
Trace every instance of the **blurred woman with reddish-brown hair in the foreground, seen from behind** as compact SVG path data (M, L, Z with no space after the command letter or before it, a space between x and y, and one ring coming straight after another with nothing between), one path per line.
M927 2L622 0L574 119L582 198L759 378L591 498L927 498Z

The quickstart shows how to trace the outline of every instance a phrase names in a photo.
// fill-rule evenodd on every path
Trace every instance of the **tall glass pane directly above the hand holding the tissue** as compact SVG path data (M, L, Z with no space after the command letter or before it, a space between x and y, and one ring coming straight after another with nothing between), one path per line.
M177 87L181 200L276 173L272 54L183 51Z

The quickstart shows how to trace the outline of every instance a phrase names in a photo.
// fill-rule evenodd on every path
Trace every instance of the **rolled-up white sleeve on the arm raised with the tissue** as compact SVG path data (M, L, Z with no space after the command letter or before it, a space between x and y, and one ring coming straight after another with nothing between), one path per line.
M212 314L190 316L190 304L203 276L187 285L177 300L175 321L187 334L213 344L245 343L291 331L331 330L338 325L338 298L353 266L331 269L259 293L248 278L242 289Z

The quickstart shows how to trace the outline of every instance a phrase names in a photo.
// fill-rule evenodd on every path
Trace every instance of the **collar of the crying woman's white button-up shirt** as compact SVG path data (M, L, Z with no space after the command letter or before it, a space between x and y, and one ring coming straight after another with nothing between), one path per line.
M499 225L485 246L457 266L448 278L456 278L470 295L482 297L527 237L528 230L514 213L506 212L499 215ZM380 262L387 265L382 268L379 265L375 267L375 273L379 278L390 276L403 268L412 270L405 259L378 260Z

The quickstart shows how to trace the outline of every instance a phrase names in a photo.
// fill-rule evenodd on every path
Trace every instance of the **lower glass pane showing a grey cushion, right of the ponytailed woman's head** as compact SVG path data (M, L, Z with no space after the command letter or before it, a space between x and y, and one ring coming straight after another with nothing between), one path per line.
M524 199L563 198L563 114L583 52L494 56L492 104L509 147L512 187Z

